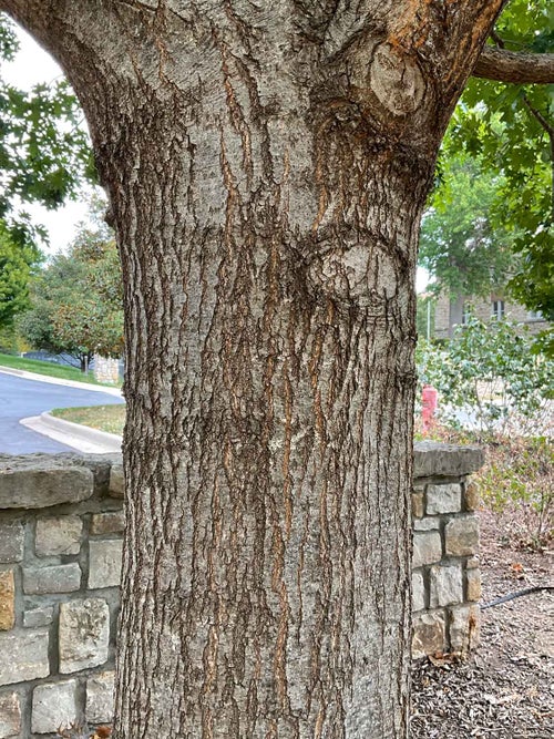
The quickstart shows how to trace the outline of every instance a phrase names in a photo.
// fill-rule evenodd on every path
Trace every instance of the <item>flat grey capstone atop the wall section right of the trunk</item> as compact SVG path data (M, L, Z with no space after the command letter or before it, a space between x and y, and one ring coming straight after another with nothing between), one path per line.
M476 472L483 464L484 453L479 447L456 447L437 441L413 444L414 478L461 478Z

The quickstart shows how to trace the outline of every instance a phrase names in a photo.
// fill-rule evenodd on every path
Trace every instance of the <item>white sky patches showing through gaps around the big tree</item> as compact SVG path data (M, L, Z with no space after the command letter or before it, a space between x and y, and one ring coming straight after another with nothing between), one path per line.
M2 76L7 82L20 88L30 89L40 82L53 82L63 76L63 72L41 47L31 37L20 30L20 51L13 62L2 63ZM78 225L86 219L86 192L83 198L69 202L58 211L47 211L40 205L25 204L24 208L35 220L49 232L50 245L44 252L54 254L64 250L76 233ZM418 292L424 290L429 277L424 269L418 269L416 288Z

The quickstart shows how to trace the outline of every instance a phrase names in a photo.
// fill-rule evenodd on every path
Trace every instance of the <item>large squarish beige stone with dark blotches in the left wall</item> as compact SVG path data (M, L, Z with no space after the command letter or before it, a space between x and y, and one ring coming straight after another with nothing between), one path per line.
M60 673L103 665L110 644L110 608L102 598L60 605Z

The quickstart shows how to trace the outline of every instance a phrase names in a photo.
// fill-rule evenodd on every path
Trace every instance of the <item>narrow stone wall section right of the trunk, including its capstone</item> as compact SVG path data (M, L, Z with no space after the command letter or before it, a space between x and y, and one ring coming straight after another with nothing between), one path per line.
M478 495L474 447L416 444L412 493L412 656L466 653L479 644Z

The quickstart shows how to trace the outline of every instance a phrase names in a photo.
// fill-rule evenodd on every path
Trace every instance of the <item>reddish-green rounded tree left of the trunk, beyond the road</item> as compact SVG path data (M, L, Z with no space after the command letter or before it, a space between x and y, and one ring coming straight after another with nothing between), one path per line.
M121 355L121 269L113 237L98 217L33 280L31 304L18 327L37 349L68 353L83 371L94 353Z

